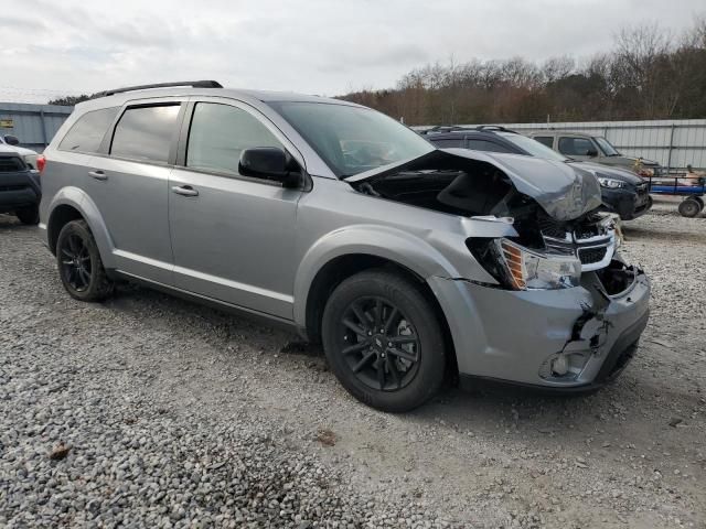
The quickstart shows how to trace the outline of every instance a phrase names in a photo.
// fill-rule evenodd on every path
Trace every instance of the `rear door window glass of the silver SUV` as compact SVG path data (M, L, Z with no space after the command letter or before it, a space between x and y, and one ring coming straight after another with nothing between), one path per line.
M128 108L115 128L110 154L167 162L179 105Z

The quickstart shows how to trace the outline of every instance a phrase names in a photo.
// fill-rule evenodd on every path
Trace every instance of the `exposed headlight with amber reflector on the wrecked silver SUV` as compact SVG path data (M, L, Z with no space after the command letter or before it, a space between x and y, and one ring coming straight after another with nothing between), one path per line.
M514 290L555 290L578 287L581 261L576 256L545 255L507 239L495 239L495 256Z

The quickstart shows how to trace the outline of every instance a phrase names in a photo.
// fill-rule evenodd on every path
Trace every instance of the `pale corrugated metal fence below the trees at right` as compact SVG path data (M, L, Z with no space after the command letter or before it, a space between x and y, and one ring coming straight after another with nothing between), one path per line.
M706 119L492 125L523 133L555 129L602 136L623 154L654 160L670 170L683 170L688 164L706 168Z

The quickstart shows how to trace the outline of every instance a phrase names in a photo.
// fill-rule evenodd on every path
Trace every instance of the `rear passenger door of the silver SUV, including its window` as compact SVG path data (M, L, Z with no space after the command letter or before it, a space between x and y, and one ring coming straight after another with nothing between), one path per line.
M128 102L86 174L118 270L163 284L172 284L168 184L182 112L176 98Z

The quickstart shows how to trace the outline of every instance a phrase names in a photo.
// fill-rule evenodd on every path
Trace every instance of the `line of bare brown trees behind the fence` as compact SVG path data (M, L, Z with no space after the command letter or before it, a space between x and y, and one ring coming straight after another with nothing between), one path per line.
M609 51L580 62L450 58L413 69L396 88L341 98L408 125L704 118L706 18L680 35L625 28Z

